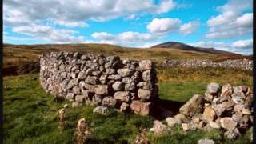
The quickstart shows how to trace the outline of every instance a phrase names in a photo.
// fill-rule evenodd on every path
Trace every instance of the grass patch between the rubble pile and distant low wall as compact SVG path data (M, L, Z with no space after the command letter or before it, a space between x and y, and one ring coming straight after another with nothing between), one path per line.
M162 99L186 102L194 94L204 95L210 82L221 86L253 86L251 71L217 68L162 68L158 69L159 95Z

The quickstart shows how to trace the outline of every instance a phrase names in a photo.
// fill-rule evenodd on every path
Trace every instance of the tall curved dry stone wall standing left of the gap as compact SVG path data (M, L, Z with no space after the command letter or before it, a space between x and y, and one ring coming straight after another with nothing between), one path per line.
M158 98L154 63L118 56L51 52L40 56L40 83L58 98L147 115Z

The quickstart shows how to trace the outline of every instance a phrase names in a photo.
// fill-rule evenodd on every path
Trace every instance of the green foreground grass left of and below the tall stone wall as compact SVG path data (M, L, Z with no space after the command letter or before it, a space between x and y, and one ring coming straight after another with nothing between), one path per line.
M75 128L80 118L86 118L94 134L90 142L130 142L138 128L150 128L153 119L138 114L112 112L101 116L93 114L93 106L69 108L67 126L58 129L58 109L65 103L56 103L39 86L38 75L30 74L4 78L4 142L5 143L74 143Z

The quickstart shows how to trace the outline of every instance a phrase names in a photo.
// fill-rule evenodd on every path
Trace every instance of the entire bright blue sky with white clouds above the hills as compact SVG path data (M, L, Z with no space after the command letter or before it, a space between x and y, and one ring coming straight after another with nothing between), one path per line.
M3 40L12 44L185 42L252 54L252 0L3 1Z

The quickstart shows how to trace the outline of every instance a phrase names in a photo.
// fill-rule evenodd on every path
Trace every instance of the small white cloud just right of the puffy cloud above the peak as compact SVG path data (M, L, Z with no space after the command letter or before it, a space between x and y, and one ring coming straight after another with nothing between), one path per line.
M198 21L194 21L194 22L188 22L183 24L179 31L180 33L187 35L187 34L191 34L194 32L194 30L196 30L198 28L198 26L200 25L200 22Z

